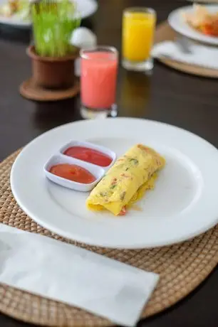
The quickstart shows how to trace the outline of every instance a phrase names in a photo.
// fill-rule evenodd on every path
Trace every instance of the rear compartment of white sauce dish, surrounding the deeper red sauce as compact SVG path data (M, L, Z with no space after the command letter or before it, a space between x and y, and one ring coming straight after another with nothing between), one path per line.
M115 163L115 160L117 159L117 156L116 156L115 152L111 151L110 149L105 148L104 146L100 146L98 144L93 144L93 143L85 142L85 141L70 141L70 142L68 142L68 144L66 144L65 146L63 146L60 149L61 154L63 154L64 151L66 151L67 149L69 149L69 148L71 148L73 146L83 146L83 147L88 148L88 149L97 150L97 151L101 152L102 154L105 154L106 156L109 156L112 159L109 166L105 167L105 166L94 165L94 166L102 167L105 171L108 171L108 169L111 166L113 166L113 164ZM67 155L63 154L63 156L67 156ZM84 161L84 162L87 162L87 161Z

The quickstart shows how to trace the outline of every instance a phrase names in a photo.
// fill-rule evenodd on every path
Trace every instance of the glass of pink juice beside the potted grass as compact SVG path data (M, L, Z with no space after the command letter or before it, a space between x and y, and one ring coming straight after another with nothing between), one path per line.
M115 108L118 51L109 46L81 50L81 102L88 112Z

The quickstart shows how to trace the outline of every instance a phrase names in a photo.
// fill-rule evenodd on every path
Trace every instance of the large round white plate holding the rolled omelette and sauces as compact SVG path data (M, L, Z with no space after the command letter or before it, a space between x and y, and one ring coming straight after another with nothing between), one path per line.
M87 193L44 176L43 166L70 139L124 154L138 142L160 152L167 165L142 211L115 218L85 208ZM96 119L66 124L38 136L17 157L11 189L21 208L43 227L72 240L104 247L142 248L190 239L218 222L218 151L199 136L143 119Z

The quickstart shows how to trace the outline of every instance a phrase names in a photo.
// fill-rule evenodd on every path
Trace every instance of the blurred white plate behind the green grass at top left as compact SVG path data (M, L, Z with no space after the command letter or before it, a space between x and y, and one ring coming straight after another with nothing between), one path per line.
M77 4L77 9L81 14L81 18L87 18L95 13L98 9L98 4L95 0L74 0ZM5 4L6 0L0 0L0 5ZM0 15L0 23L6 25L16 26L19 28L29 28L31 26L31 21L24 21L19 15L14 15L11 17L4 17Z

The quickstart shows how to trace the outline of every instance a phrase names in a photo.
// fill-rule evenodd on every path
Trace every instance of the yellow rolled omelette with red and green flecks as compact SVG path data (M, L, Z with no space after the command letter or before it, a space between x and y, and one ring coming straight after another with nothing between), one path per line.
M153 188L155 173L165 166L165 159L142 144L136 144L108 170L86 200L90 210L109 210L122 215L147 189ZM124 211L123 211L124 210Z

